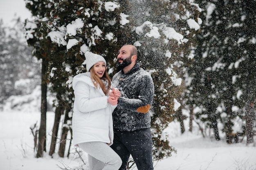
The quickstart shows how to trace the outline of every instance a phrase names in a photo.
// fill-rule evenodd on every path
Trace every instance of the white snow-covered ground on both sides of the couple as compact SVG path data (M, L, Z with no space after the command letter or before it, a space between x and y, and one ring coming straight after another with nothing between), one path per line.
M70 158L35 158L34 141L30 126L40 122L40 113L17 111L0 112L0 169L1 170L78 170L83 165L75 156ZM51 140L54 113L47 113L47 151ZM155 170L256 170L256 147L226 144L215 139L203 138L199 131L180 134L179 124L170 123L166 129L169 141L177 149L172 157L154 162ZM76 154L78 155L78 154ZM86 163L86 153L82 155ZM86 166L83 166L86 168ZM136 168L134 168L135 170Z

